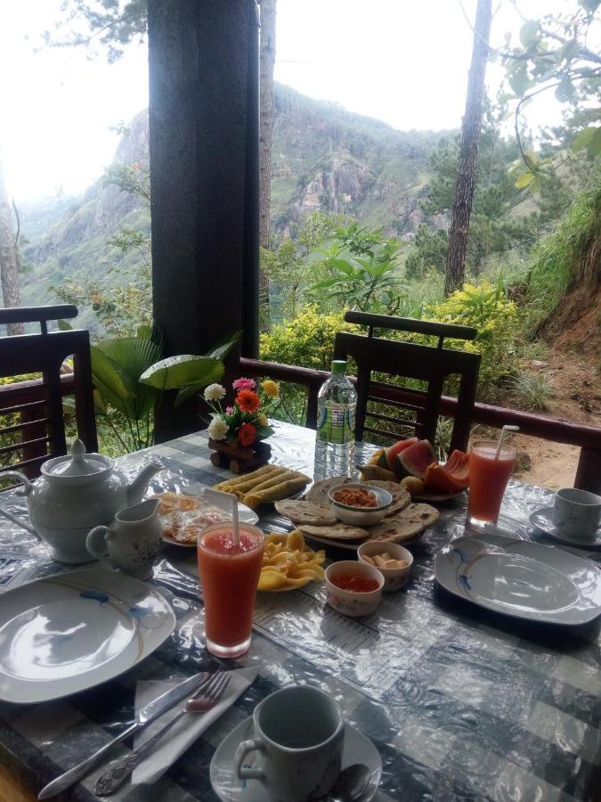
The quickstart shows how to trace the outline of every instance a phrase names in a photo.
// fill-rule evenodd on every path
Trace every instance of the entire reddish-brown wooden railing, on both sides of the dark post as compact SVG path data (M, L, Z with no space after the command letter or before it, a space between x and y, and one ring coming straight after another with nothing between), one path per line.
M264 362L260 359L240 359L240 371L251 376L269 376L277 381L289 381L307 389L306 426L314 429L317 423L317 394L321 384L328 378L329 373L301 368L296 365ZM61 376L63 395L69 395L74 390L73 374L66 373ZM386 400L400 400L411 403L413 400L410 390L387 388L383 391ZM0 386L0 413L7 408L20 412L21 422L28 422L31 406L39 403L43 398L42 382L21 381L15 384ZM445 417L454 417L457 409L457 399L443 396L441 401L441 414ZM579 446L581 455L574 480L574 487L601 493L601 429L593 426L584 426L580 423L556 421L542 415L525 413L515 409L506 409L502 406L476 403L473 420L500 429L507 423L515 423L520 427L522 434L534 438L550 440L554 443L564 443L568 446ZM20 428L20 427L19 427ZM22 444L22 467L37 465L45 457L42 455L44 443L32 442Z

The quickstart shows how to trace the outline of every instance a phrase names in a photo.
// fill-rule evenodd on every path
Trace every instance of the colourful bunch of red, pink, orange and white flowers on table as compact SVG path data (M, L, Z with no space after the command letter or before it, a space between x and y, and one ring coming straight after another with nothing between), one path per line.
M209 384L204 397L212 410L213 418L208 426L213 440L228 440L232 445L253 446L273 434L265 411L280 397L277 382L265 379L257 388L254 379L237 379L231 387L236 390L232 406L223 409L225 388L221 384Z

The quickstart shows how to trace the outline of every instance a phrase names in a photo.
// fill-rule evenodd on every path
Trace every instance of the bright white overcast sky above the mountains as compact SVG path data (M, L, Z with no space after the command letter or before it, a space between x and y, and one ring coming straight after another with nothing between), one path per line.
M538 17L575 0L522 0ZM17 201L85 189L110 163L111 126L148 104L144 45L116 64L83 50L36 52L61 0L0 4L0 145L9 192ZM474 18L475 0L463 0ZM520 20L508 0L495 15L492 44ZM459 127L465 105L472 31L459 0L278 0L276 80L299 92L409 128ZM498 86L499 67L488 80ZM556 116L551 101L529 110L532 124Z

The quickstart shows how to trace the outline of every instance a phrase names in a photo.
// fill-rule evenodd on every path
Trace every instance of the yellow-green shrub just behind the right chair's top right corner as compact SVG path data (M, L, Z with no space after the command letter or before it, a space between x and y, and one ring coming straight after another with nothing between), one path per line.
M509 300L503 288L483 282L478 286L466 284L439 304L427 307L424 317L440 323L474 326L475 340L445 340L447 348L458 348L482 354L478 398L495 400L499 386L517 370L517 350L522 323L516 304Z

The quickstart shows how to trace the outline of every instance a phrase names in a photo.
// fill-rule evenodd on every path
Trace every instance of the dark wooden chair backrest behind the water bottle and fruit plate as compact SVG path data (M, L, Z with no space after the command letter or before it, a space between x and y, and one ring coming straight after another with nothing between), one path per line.
M443 348L445 338L474 340L477 331L468 326L434 323L390 315L347 312L345 321L369 327L368 335L339 332L334 346L335 359L352 358L357 365L357 417L355 437L365 433L391 441L416 436L435 442L444 382L459 377L458 410L453 423L451 449L467 448L480 355ZM375 330L389 329L426 334L438 338L437 347L402 340L386 340ZM400 393L403 385L372 379L372 373L424 382L421 389ZM406 385L404 386L406 387ZM410 395L410 401L402 396ZM378 405L374 410L369 403ZM387 407L387 409L385 409ZM388 430L368 425L366 419L385 421Z

